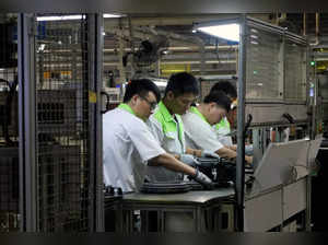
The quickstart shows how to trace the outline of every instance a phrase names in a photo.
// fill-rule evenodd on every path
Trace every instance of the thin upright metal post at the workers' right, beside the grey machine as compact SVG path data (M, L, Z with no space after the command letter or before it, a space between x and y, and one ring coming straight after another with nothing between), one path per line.
M237 165L236 201L237 230L244 231L244 185L245 185L245 91L246 91L246 14L239 22L239 60L238 60L238 112L237 112Z

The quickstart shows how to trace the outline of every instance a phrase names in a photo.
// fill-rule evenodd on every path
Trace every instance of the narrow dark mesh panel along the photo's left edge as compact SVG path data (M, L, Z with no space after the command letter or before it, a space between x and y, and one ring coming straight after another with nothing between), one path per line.
M16 27L0 14L0 232L20 229Z

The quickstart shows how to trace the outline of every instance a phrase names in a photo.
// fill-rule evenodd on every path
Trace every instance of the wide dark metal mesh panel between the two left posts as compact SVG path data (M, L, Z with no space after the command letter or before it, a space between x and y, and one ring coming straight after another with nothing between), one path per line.
M89 231L85 19L37 22L37 229Z

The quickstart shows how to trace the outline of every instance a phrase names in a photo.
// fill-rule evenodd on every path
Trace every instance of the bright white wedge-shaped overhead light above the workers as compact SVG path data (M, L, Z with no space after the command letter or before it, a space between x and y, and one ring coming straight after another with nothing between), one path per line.
M239 24L237 23L220 23L213 25L198 26L197 31L216 36L223 39L239 42Z

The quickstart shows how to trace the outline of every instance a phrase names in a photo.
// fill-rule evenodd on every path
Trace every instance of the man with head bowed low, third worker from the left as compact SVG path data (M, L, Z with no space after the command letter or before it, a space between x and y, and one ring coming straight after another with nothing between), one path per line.
M208 94L198 106L192 106L183 116L186 142L190 148L207 149L215 152L220 158L235 159L236 152L224 147L218 139L213 125L224 118L231 109L231 100L223 92ZM248 164L251 156L245 156Z

